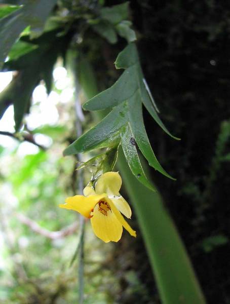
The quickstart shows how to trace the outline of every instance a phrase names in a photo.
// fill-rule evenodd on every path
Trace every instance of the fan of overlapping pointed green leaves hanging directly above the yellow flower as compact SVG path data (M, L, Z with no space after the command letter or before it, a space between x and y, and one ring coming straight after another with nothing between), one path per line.
M171 135L158 116L158 109L144 80L134 43L129 44L119 54L115 64L117 68L125 69L119 80L83 105L86 110L112 110L97 126L67 147L64 155L116 145L120 139L133 174L140 182L152 188L141 167L136 144L150 166L165 176L172 177L162 168L151 148L144 127L142 103L157 124L171 137L177 138Z

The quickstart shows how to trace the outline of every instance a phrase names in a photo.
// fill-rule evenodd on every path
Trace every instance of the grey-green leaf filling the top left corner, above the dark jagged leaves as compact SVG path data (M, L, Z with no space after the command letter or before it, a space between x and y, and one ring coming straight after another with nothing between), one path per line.
M55 4L56 0L27 0L22 8L0 20L0 68L18 36L28 25L33 37L42 33Z

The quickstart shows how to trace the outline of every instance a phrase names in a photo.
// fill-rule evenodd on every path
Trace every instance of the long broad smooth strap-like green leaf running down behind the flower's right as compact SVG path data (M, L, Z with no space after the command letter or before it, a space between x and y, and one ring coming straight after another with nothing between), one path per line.
M140 225L161 302L205 304L193 265L160 192L154 193L138 183L123 153L119 152L117 163ZM148 168L144 169L148 177Z

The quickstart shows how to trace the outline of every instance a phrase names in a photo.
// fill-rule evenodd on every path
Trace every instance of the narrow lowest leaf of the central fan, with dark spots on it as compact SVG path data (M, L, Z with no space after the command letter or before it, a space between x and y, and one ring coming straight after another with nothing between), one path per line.
M152 191L156 191L154 186L147 180L145 176L135 146L134 135L129 124L127 124L121 132L121 143L125 158L133 175L146 187Z

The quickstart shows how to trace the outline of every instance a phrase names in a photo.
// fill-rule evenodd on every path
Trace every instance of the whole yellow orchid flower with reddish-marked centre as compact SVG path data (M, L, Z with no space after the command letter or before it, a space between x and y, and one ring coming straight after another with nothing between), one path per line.
M124 219L131 217L131 209L126 200L120 195L122 178L118 172L102 174L95 185L86 186L83 195L75 195L65 200L61 208L77 211L90 218L95 235L105 243L118 242L121 239L123 227L136 237L136 232Z

